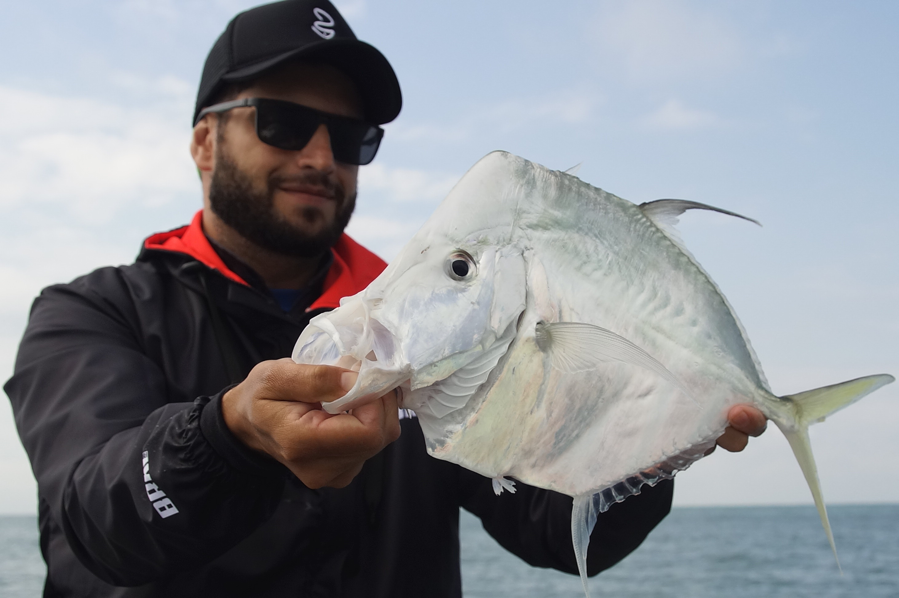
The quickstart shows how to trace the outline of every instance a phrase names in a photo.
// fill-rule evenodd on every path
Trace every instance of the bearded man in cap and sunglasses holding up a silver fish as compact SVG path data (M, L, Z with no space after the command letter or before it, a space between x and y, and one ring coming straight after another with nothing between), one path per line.
M327 2L228 24L194 113L203 209L136 263L44 290L5 386L46 596L459 596L460 506L531 565L575 572L570 498L496 496L427 455L394 393L327 415L355 373L279 359L384 267L343 228L400 104L387 59ZM741 450L764 419L731 416L742 432L720 443ZM590 572L671 496L662 483L603 513Z

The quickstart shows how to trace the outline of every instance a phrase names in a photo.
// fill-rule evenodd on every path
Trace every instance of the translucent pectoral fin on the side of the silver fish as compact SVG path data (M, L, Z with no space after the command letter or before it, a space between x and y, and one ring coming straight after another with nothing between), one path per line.
M535 338L540 351L549 355L556 370L573 374L595 370L602 361L622 361L654 371L697 403L671 370L636 344L611 330L583 322L538 322Z

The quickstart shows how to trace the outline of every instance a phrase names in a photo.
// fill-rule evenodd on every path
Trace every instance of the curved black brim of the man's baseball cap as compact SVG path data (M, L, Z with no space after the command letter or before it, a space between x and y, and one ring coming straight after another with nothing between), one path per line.
M339 69L349 76L361 96L365 118L374 124L396 119L403 107L403 94L393 67L378 49L360 40L322 40L268 58L222 76L222 81L238 83L262 75L293 58L310 58Z

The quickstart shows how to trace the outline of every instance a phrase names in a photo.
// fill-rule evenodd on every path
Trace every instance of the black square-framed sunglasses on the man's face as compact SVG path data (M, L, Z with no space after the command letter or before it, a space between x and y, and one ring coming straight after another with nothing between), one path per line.
M268 98L244 98L213 104L200 111L196 122L200 122L207 114L245 106L254 106L256 109L256 135L259 140L281 149L298 150L306 147L309 139L316 134L318 125L324 124L331 137L334 159L344 164L369 164L375 159L381 138L384 137L384 129L364 120Z

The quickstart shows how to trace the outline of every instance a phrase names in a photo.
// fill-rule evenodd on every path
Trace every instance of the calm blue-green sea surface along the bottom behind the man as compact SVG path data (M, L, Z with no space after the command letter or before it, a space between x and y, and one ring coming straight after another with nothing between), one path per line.
M681 507L616 567L594 598L899 598L899 504L829 509L843 575L812 506ZM575 576L528 566L462 512L467 598L580 598ZM0 596L40 596L33 517L0 516Z

